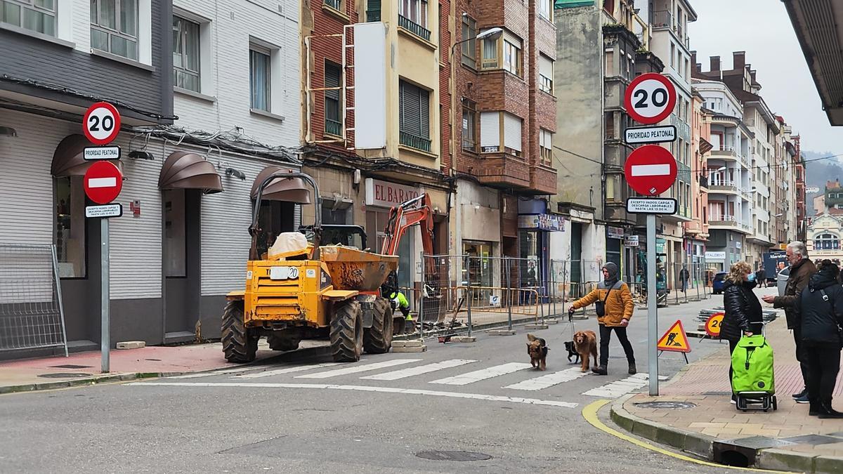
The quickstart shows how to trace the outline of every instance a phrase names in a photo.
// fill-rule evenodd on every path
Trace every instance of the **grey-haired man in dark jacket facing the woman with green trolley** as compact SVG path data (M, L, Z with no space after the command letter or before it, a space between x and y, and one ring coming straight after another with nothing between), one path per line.
M793 331L796 358L799 361L800 369L802 369L802 380L804 382L803 390L793 394L793 398L796 399L797 403L808 403L808 365L805 362L806 356L802 347L802 325L799 320L799 299L797 295L802 293L803 289L808 286L808 281L817 272L817 267L813 265L813 261L808 259L808 249L805 247L805 244L798 240L787 245L786 256L787 262L790 263L791 271L787 277L784 295L773 296L772 294L767 294L763 299L765 303L772 303L774 308L783 308L785 310L787 329Z

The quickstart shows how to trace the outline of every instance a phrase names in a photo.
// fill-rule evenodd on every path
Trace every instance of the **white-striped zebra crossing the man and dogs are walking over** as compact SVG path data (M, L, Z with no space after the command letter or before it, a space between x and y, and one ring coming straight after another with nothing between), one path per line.
M333 382L333 380L348 377L356 377L359 380L387 382L394 380L411 382L420 380L421 383L426 384L454 386L473 385L486 381L487 388L489 382L494 383L494 380L506 380L504 383L497 385L506 391L547 391L552 387L588 378L591 382L585 382L583 380L583 385L581 385L583 388L580 389L585 390L588 388L588 390L580 392L581 395L599 396L601 398L610 399L618 398L632 391L638 391L648 384L647 374L636 374L620 380L614 380L611 376L609 376L609 381L607 381L607 383L591 388L594 382L602 382L607 378L593 376L589 372L584 373L580 370L579 366L547 373L534 371L530 364L510 362L465 371L465 369L468 368L467 366L481 365L481 361L467 358L454 358L420 364L424 362L425 360L421 358L387 358L377 362L368 362L365 359L362 359L357 362L357 364L341 364L333 362L321 364L299 364L279 367L277 369L271 368L260 372L255 371L255 369L259 368L251 366L234 369L220 369L201 374L180 375L170 378L196 379L201 377L210 377L213 375L227 374L230 379L237 379L244 382L247 380L255 380L255 383L258 383L258 385L265 385L263 384L263 380L266 380L267 377L292 375L294 379L328 380L329 384L325 386L344 386L336 385L336 382ZM448 372L450 372L450 374L448 374ZM457 373L454 374L454 372ZM430 377L430 374L432 374L433 377ZM448 376L442 377L442 375L440 375L439 377L436 377L437 374ZM427 377L425 377L426 375ZM422 377L424 378L422 379ZM516 378L517 380L513 380ZM667 380L667 377L659 377L659 380ZM340 383L346 383L346 380L343 380ZM295 384L287 385L292 386ZM430 392L434 393L435 391Z

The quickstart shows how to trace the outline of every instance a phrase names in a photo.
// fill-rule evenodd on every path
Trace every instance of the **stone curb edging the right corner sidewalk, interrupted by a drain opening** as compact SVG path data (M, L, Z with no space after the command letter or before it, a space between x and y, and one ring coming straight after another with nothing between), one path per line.
M622 396L612 402L609 417L616 425L636 436L701 456L706 461L714 461L714 444L720 440L707 434L674 428L664 423L636 417L624 408L624 403L636 395ZM843 457L812 456L796 451L766 449L757 451L754 467L774 471L840 473L843 472Z

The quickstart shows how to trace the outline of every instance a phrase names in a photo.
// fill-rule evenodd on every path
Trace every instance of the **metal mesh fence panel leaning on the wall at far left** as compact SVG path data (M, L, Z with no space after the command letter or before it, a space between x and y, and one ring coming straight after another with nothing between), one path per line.
M64 347L55 245L0 245L0 351Z

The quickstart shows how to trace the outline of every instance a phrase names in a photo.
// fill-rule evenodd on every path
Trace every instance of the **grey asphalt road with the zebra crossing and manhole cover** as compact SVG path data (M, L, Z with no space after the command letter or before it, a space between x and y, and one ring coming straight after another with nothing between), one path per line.
M677 318L695 327L701 308L721 303L715 296L663 309L660 331ZM636 310L630 326L642 374L646 319ZM597 323L576 327L596 331ZM583 407L640 389L635 380L607 387L629 377L616 341L608 376L581 375L566 360L569 331L566 324L535 331L550 346L546 372L529 369L519 329L508 337L480 333L473 344L428 342L427 353L365 355L357 364L291 353L228 374L0 396L0 472L729 471L645 450L588 424ZM694 359L718 343L691 346ZM665 353L660 374L673 376L684 364L680 354ZM595 389L602 395L587 394ZM487 459L420 457L426 451Z

